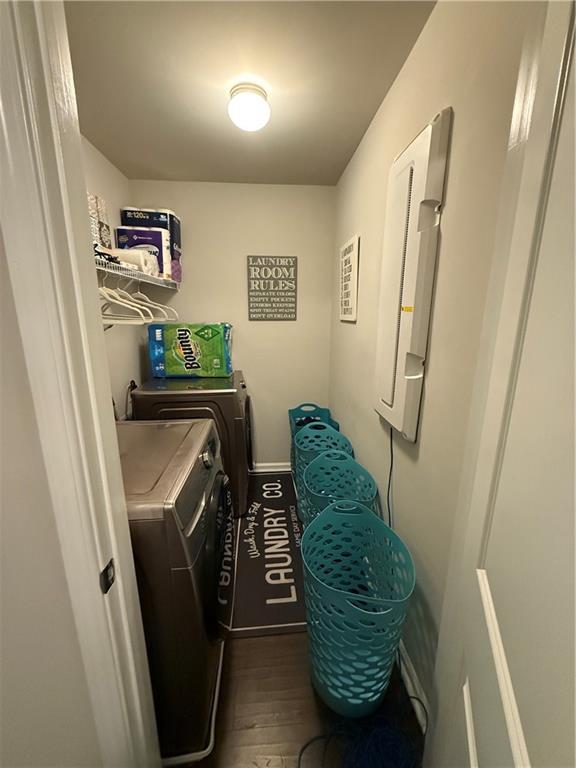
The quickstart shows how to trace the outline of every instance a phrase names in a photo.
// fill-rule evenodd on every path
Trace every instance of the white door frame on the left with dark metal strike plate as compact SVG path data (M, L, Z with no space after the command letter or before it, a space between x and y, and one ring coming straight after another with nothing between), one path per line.
M101 765L157 766L63 4L0 3L0 57L0 226Z

